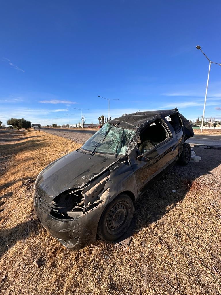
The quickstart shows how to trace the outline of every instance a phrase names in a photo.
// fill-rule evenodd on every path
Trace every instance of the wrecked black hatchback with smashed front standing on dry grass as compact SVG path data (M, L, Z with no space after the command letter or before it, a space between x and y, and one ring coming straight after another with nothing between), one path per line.
M85 144L44 168L33 206L43 227L79 250L97 237L111 242L127 230L133 205L177 160L187 165L194 135L178 109L113 119Z

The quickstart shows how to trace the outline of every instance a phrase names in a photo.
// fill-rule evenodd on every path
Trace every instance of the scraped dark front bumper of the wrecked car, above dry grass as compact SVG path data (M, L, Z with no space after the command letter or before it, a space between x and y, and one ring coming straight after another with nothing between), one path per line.
M61 220L44 212L39 206L40 197L34 192L33 207L40 223L62 245L72 250L80 250L97 238L97 227L104 204L91 209L75 219Z

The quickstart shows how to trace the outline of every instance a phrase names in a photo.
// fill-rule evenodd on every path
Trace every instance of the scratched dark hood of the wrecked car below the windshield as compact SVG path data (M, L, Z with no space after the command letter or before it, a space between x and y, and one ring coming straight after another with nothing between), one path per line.
M83 187L118 160L74 151L45 167L35 181L35 190L51 201L63 191Z

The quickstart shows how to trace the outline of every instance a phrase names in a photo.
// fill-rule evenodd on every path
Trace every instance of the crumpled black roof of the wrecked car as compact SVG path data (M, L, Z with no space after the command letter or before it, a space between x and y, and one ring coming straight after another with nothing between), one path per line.
M136 112L128 115L124 115L122 117L113 119L109 121L109 123L113 125L117 125L126 129L136 129L139 126L152 121L153 119L157 119L160 115L167 117L171 114L178 113L178 109L171 110L158 110L158 111L147 111L147 112Z

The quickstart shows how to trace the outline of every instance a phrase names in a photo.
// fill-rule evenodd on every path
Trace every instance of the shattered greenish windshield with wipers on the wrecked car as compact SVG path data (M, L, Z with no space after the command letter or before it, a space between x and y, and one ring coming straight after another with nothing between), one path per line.
M128 143L135 134L134 130L123 129L110 123L106 123L96 132L82 149L93 153L105 153L124 156L127 152Z

